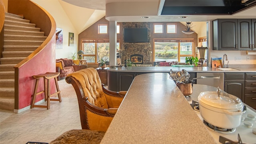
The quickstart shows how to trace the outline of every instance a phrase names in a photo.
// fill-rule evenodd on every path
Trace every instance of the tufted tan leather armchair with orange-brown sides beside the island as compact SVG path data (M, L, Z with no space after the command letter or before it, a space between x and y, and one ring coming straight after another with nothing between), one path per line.
M94 68L73 72L66 76L66 82L76 91L82 129L106 132L126 91L106 89Z

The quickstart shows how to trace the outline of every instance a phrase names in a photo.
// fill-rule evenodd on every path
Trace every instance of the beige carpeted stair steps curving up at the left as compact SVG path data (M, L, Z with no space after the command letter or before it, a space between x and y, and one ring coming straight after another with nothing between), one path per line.
M23 16L5 15L4 50L0 58L0 109L14 110L14 66L34 52L47 36Z

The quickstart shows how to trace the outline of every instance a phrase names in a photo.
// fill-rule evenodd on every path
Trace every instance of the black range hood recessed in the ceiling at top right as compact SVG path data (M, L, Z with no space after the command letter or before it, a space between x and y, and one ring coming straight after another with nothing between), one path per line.
M232 15L256 5L256 0L161 0L160 15Z

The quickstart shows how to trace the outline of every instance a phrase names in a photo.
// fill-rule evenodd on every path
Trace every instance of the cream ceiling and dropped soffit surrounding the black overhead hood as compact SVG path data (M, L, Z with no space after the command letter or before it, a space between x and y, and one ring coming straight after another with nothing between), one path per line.
M208 22L217 18L256 18L256 6L238 12L234 15L158 15L159 7L164 0L60 0L62 7L68 13L72 13L70 18L76 22L76 29L82 32L106 14L106 19L116 22ZM70 5L71 4L71 5ZM77 8L75 8L78 6ZM70 9L71 8L71 9ZM81 9L79 11L88 19L81 20L81 17L74 17L74 12L70 10ZM68 10L69 9L69 10ZM76 14L75 14L76 15ZM149 18L141 18L148 16ZM93 18L93 19L92 19ZM79 25L78 25L79 24ZM77 28L79 27L79 28Z

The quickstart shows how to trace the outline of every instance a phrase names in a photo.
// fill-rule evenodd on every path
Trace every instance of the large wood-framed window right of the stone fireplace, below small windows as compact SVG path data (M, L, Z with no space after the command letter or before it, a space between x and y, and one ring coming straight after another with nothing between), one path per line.
M193 51L194 39L154 39L154 61L186 62Z

